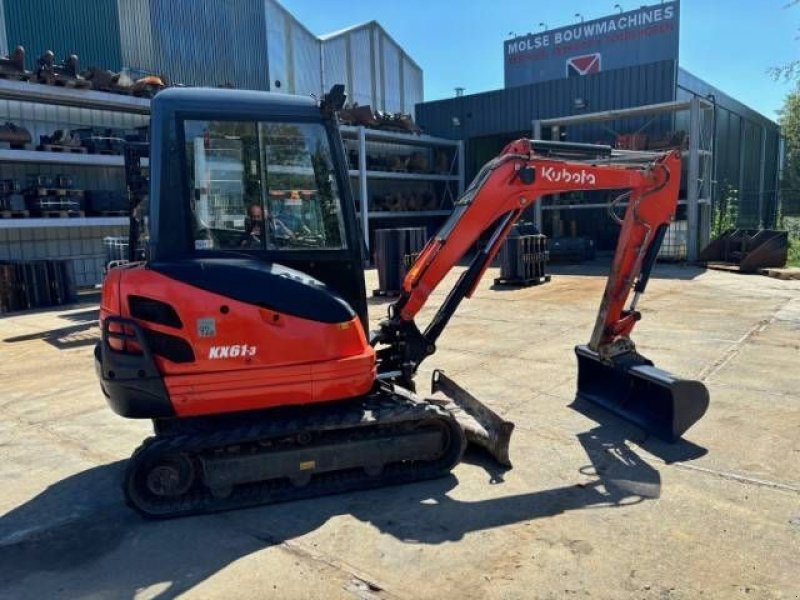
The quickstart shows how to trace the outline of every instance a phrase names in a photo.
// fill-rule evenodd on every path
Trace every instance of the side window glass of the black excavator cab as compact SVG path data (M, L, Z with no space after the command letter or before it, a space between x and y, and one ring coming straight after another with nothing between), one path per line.
M345 247L320 124L185 121L196 250Z

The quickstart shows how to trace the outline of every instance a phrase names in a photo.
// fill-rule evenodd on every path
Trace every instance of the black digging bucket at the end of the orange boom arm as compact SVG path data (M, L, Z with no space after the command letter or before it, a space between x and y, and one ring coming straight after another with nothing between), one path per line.
M598 404L667 442L677 441L705 414L708 390L679 379L635 352L603 362L588 346L576 346L578 397Z

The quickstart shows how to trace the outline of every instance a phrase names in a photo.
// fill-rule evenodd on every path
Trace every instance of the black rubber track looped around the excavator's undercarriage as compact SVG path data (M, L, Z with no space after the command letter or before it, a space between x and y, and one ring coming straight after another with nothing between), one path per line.
M353 439L367 437L378 427L385 432L387 427L402 428L413 422L438 422L449 431L450 446L437 460L393 463L386 465L377 476L368 476L363 469L319 473L302 487L292 485L287 479L240 484L234 486L226 498L213 496L202 485L199 473L196 475L198 481L181 496L157 497L139 489L141 477L137 477L137 471L147 464L153 464L160 456L176 453L197 456L218 448L282 439L301 432L330 431L338 434L352 431ZM361 403L323 405L309 409L302 417L264 420L210 433L148 438L128 462L123 491L127 504L148 518L212 513L443 477L459 463L465 446L461 427L443 408L411 395L381 391ZM313 444L309 447L313 447Z

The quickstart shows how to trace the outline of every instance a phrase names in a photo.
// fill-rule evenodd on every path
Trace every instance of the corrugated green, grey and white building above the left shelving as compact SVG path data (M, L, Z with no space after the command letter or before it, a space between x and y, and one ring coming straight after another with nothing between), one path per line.
M0 55L28 68L45 50L84 67L164 74L171 83L319 95L411 113L422 69L375 21L318 37L275 0L0 0ZM191 14L191 18L187 15Z

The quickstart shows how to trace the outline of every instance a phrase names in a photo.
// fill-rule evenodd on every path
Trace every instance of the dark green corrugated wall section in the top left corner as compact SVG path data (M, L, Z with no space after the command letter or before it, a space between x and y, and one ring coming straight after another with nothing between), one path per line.
M25 47L28 68L46 50L55 52L59 60L77 54L82 68L98 65L118 70L122 66L117 0L2 2L5 44Z

